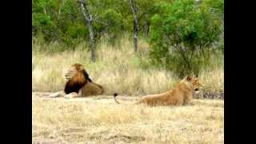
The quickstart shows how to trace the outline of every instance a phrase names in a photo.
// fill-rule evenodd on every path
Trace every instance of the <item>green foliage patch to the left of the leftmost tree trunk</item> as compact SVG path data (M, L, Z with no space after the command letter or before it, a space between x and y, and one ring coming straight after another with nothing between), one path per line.
M43 34L46 42L61 41L74 47L78 39L87 37L81 19L78 3L72 0L33 0L34 33Z

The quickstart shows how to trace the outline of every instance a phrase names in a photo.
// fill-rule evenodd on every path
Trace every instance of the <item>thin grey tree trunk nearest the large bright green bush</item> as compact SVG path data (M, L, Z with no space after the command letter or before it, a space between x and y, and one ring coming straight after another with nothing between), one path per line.
M138 50L138 9L134 0L129 0L130 9L134 15L134 52Z

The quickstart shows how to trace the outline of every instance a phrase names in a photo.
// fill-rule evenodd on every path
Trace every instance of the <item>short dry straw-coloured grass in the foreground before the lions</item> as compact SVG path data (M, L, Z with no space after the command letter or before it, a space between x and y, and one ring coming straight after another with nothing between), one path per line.
M33 95L33 142L223 143L224 102L134 105L138 97L39 98Z

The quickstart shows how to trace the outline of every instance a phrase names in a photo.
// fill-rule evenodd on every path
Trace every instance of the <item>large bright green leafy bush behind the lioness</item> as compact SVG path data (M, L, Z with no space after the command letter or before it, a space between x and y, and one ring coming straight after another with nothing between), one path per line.
M180 76L198 74L202 65L209 65L210 54L216 50L222 18L209 5L194 0L159 2L156 11L151 19L152 62Z

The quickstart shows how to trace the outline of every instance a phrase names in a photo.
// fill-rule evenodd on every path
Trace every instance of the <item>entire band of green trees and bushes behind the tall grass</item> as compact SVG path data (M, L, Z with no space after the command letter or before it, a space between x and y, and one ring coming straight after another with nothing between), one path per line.
M137 0L138 41L150 44L151 66L178 76L198 74L222 59L223 0ZM33 0L33 37L62 46L50 51L75 50L80 43L89 50L90 31L80 1ZM87 0L96 48L104 40L120 45L123 34L132 35L134 14L129 0ZM133 49L133 47L130 47ZM139 47L138 47L139 49ZM49 50L39 49L41 51Z

